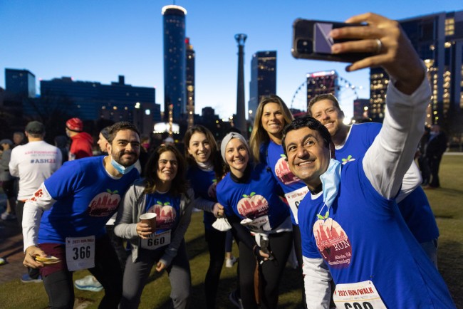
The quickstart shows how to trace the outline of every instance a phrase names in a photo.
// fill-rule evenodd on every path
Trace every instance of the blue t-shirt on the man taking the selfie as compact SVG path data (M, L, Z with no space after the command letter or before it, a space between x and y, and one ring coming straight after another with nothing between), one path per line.
M454 308L442 276L408 229L393 199L370 184L362 157L343 165L326 214L323 194L299 206L302 253L323 258L336 285L372 281L387 308Z

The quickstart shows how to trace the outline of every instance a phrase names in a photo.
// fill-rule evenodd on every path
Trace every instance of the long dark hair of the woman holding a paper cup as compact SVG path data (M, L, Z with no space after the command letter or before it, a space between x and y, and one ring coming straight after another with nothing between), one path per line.
M148 158L145 169L145 193L155 193L156 184L159 182L157 177L157 167L159 158L164 152L173 152L177 159L177 174L172 180L172 186L169 192L172 195L180 195L187 192L187 180L185 177L186 166L185 159L177 148L172 145L161 145L155 149Z

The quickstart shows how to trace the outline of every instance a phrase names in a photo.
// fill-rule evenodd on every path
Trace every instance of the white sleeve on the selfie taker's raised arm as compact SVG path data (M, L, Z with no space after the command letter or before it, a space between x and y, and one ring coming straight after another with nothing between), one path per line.
M401 93L392 81L389 83L383 127L362 162L365 175L375 190L387 199L399 192L404 174L415 156L425 130L430 98L431 88L426 77L411 95Z

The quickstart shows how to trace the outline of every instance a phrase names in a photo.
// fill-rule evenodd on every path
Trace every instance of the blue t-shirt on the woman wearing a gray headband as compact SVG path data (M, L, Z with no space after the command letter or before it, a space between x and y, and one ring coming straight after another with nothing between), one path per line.
M288 206L281 200L281 188L265 164L251 167L249 179L234 182L230 173L217 184L217 199L227 216L250 219L251 231L271 231L289 216Z

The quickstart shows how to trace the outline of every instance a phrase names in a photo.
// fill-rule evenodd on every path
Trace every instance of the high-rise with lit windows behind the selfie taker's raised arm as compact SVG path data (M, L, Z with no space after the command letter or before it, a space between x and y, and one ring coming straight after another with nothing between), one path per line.
M403 19L400 26L428 68L432 102L427 124L442 123L463 108L463 11ZM370 70L370 117L375 121L384 118L388 78L381 68Z

